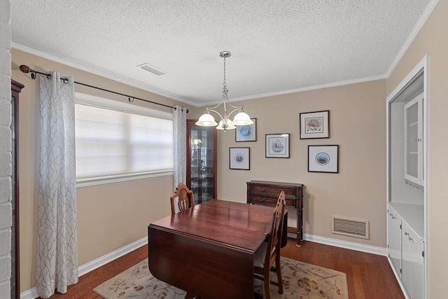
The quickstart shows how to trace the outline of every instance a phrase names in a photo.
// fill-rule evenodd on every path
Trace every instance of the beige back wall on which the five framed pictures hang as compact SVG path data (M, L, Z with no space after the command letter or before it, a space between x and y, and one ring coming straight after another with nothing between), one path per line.
M304 184L304 232L386 246L386 82L372 81L241 102L257 118L257 141L218 132L218 197L246 202L246 182ZM299 113L330 111L329 139L300 139ZM290 158L265 158L265 134L289 133ZM308 145L339 145L339 174L307 171ZM250 147L251 169L229 169L229 147ZM367 219L370 239L331 233L331 216ZM295 226L290 213L289 226Z

